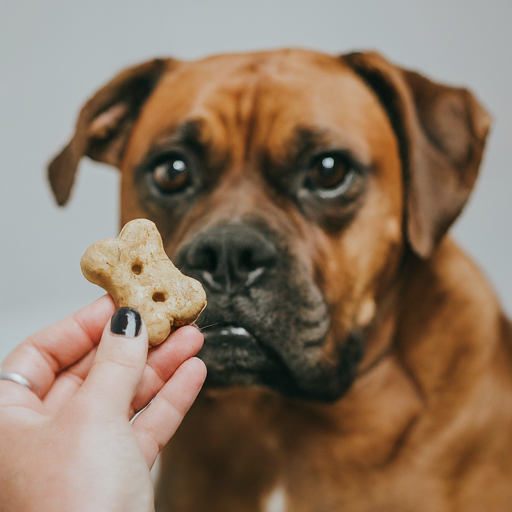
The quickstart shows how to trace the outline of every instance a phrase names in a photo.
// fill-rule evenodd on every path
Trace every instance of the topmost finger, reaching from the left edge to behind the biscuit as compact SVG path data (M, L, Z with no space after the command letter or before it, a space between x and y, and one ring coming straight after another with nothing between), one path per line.
M77 362L97 345L114 310L112 298L108 295L101 297L27 338L7 356L2 370L22 375L30 382L32 390L39 397L44 397L57 373ZM0 386L3 383L0 381Z

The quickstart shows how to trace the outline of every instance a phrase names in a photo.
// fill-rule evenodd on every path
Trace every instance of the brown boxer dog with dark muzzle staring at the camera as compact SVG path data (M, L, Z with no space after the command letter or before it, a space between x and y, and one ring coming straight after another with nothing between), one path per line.
M121 171L208 294L206 388L159 511L505 511L512 329L446 236L490 124L376 53L154 60L84 106L50 165Z

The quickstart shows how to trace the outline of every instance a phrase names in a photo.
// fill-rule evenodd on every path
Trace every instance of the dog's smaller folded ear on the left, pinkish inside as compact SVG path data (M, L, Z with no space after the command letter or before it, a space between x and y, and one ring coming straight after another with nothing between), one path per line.
M143 103L173 62L154 59L125 69L86 102L73 138L48 166L48 177L59 205L69 199L82 156L119 165Z

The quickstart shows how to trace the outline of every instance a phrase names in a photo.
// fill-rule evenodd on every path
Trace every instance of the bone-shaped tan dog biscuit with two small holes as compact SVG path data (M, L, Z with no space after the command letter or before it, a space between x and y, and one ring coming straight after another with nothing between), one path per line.
M149 220L132 220L119 238L92 244L80 266L86 279L106 290L118 308L135 308L141 314L150 347L194 322L206 306L201 283L173 265Z

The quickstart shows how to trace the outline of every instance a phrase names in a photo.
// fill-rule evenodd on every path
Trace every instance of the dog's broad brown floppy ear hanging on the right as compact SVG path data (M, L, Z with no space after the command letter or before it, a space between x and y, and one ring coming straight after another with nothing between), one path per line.
M397 134L407 239L426 258L468 200L491 118L467 89L434 83L378 53L343 59L379 97Z

